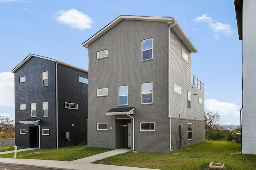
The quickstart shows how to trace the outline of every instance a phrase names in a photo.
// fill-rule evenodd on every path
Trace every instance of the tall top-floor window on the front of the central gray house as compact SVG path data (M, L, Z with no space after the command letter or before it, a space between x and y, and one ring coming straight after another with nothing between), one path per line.
M142 46L142 61L153 59L152 50L153 50L153 39L145 39L141 41Z

